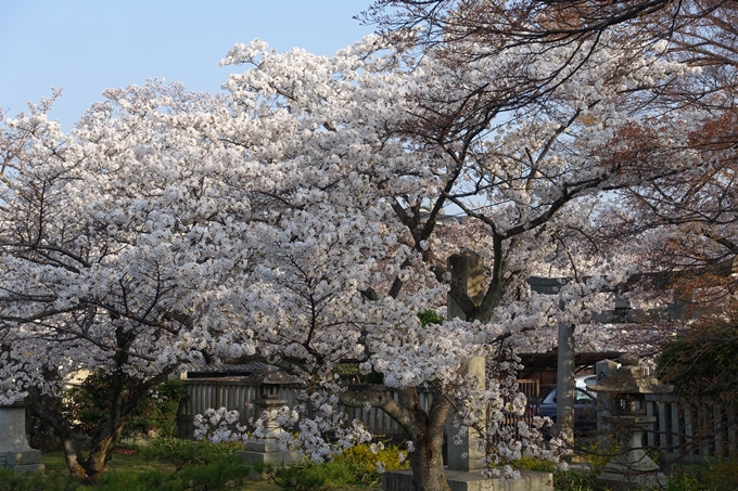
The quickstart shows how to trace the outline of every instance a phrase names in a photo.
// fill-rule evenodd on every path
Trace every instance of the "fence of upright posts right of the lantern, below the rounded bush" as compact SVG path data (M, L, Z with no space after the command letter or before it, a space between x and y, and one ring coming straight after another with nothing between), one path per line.
M674 395L646 396L646 414L656 416L646 432L648 448L669 461L699 462L738 455L738 415L713 402L687 402Z

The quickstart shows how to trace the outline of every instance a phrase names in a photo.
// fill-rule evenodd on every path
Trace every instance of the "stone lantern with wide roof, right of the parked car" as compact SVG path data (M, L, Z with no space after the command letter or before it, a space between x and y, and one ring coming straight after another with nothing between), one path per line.
M601 416L609 423L618 439L620 450L597 477L598 486L608 489L635 489L663 487L666 478L642 449L642 437L656 416L646 415L646 395L667 391L666 386L647 375L638 366L638 356L621 354L619 369L590 388L594 392L609 396L610 412Z

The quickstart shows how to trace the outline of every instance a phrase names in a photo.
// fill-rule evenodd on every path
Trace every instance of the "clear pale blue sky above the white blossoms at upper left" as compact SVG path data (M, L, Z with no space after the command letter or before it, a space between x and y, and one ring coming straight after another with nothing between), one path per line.
M216 92L237 42L331 55L372 31L352 16L370 0L0 0L0 107L8 116L64 88L65 130L105 88L147 78Z

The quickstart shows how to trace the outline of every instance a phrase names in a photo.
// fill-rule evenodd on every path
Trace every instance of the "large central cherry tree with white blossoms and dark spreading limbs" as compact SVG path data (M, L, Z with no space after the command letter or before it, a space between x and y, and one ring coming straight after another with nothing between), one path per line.
M370 57L372 49L383 48L372 46L377 42L372 40L332 60L301 51L278 54L256 42L234 48L226 60L253 66L226 86L244 115L243 120L231 118L229 124L265 127L276 118L282 131L279 141L297 145L296 150L268 146L265 158L260 155L266 145L256 144L253 132L227 131L247 135L229 142L250 158L263 159L269 181L258 190L270 198L279 196L282 204L265 230L289 231L281 235L285 245L259 254L264 264L267 260L271 264L269 271L279 271L279 280L228 287L234 295L228 305L247 299L240 300L240 315L256 323L247 325L260 326L251 330L258 339L257 353L267 350L270 362L293 373L325 377L322 382L310 375L321 382L329 401L373 405L398 421L417 449L411 461L421 489L445 489L441 443L450 412L458 412L463 431L480 423L471 403L474 397L500 401L514 390L506 386L507 380L493 382L485 391L473 390L459 370L466 360L488 356L504 345L550 347L559 323L588 318L598 308L602 284L621 281L625 274L613 258L580 254L585 248L576 240L586 236L599 194L653 179L664 169L645 171L625 161L603 165L598 152L619 128L638 118L639 91L679 76L684 68L661 63L648 52L635 56L622 49L616 37L611 41L611 47L602 40L589 52L589 69L563 81L560 92L514 111L494 105L495 91L475 88L504 79L511 66L522 66L520 57L530 54L524 48L509 57L482 59L453 72L432 52L412 63L412 70L398 69L407 60L394 53ZM371 132L366 131L367 125L374 125ZM270 134L278 131L268 128ZM357 165L349 165L352 160ZM300 179L280 185L273 178L275 163L280 170L298 169ZM341 246L330 246L330 254L317 249L318 242L336 243L329 240L333 232L313 221L330 219L326 203L331 203L332 212L340 211L334 216L340 223L356 218L369 236L359 238L357 230L352 244L339 241ZM460 299L466 319L441 327L421 326L417 313L444 300L440 287L446 279L448 247L440 242L438 218L450 204L483 230L478 251L488 260L488 283L481 303ZM325 234L325 240L306 236L308 231ZM255 246L266 247L263 240ZM334 262L346 254L348 260ZM343 276L333 271L339 267L346 272L351 264L367 268L355 287L339 283ZM556 298L534 295L525 280L551 270L575 281ZM290 271L292 281L282 276ZM386 288L378 290L377 282ZM296 283L304 285L298 292L282 286ZM239 290L241 285L245 289ZM259 303L265 292L270 300ZM565 309L559 308L562 299ZM329 310L342 305L341 314ZM320 333L332 331L349 312L355 316L346 334L355 341L322 340ZM305 324L300 327L300 322ZM267 328L275 324L276 331ZM582 332L585 338L587 331ZM267 337L259 334L265 332ZM282 338L282 333L290 334ZM351 359L360 362L362 370L382 373L384 387L357 391L334 386L330 374L335 364ZM296 360L302 364L297 371ZM428 385L436 389L436 397L425 413L417 390ZM390 389L399 391L398 401ZM498 406L489 421L505 411ZM494 423L491 428L482 423L481 434L495 430ZM529 450L543 453L535 445ZM488 458L499 462L520 452L521 444L509 439Z

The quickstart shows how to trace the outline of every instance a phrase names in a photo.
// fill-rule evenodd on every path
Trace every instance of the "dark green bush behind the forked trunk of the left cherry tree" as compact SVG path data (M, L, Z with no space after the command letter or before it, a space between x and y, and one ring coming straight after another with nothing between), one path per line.
M76 430L92 436L105 424L110 408L110 377L104 373L93 373L80 386L67 392L64 413ZM124 400L127 396L127 390L124 390ZM139 402L123 436L127 438L155 431L161 437L174 437L177 431L179 402L186 396L187 388L180 379L160 385L153 397L143 398Z

